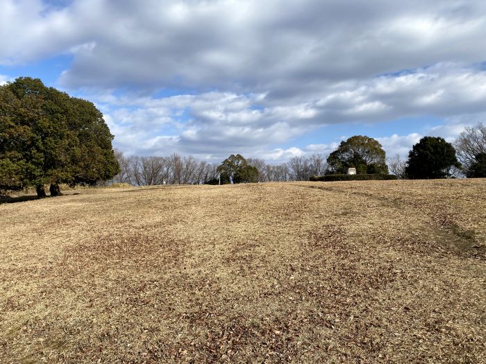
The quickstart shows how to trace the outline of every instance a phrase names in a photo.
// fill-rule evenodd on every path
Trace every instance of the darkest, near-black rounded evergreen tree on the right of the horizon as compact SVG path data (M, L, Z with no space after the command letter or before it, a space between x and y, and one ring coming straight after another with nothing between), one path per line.
M452 144L440 137L423 137L408 153L405 173L412 179L446 178L459 166Z

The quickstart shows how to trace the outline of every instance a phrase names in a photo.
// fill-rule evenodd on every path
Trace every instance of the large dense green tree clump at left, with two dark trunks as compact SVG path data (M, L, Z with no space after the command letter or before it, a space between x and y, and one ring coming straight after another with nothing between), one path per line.
M60 193L59 183L94 184L119 171L112 135L93 103L39 79L0 86L0 189Z

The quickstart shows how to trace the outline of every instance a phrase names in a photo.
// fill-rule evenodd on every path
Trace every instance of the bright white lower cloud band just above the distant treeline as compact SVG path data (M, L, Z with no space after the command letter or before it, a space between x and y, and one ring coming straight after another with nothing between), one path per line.
M460 116L486 112L484 85L485 71L457 64L437 64L405 74L336 84L330 90L315 94L313 99L287 105L275 104L266 93L92 98L105 101L108 110L115 107L108 112L116 124L115 135L131 134L131 138L138 135L151 140L165 135L165 130L171 128L172 134L168 137L172 139L168 145L182 153L223 157L238 152L281 159L290 154L272 146L334 123L353 122L355 125L357 121L376 123L404 116L439 116L444 118L444 125L419 131L452 140L464 130L464 125L471 124L459 121ZM392 135L380 141L385 150L404 155L418 141L417 137L416 133ZM140 153L151 151L146 143L146 139L138 141ZM333 144L308 146L308 150L324 154L333 148ZM303 153L308 150L303 148Z

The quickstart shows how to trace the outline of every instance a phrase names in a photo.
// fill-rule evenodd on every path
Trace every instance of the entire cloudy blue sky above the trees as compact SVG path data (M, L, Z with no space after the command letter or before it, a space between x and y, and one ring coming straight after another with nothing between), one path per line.
M125 155L406 157L486 115L486 1L0 0L0 84L90 100Z

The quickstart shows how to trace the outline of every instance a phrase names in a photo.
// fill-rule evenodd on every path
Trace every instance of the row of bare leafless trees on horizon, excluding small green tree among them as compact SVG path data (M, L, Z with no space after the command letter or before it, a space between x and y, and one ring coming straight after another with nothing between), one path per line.
M182 156L174 153L168 157L139 157L115 152L120 173L112 182L128 183L133 186L149 186L156 184L206 184L235 182L235 171L228 172L228 163L214 164L199 161L192 156ZM233 156L237 158L236 156ZM241 157L241 156L240 156ZM231 160L231 157L228 158ZM244 159L244 158L243 158ZM234 162L233 162L234 163ZM240 159L255 168L256 175L250 175L243 182L285 182L295 180L310 180L312 175L324 174L327 168L326 157L315 154L307 157L293 157L287 163L268 164L263 159ZM226 169L221 168L226 167ZM229 167L231 168L231 167ZM233 167L234 168L234 167ZM228 177L224 177L228 175ZM220 176L222 180L220 180Z

